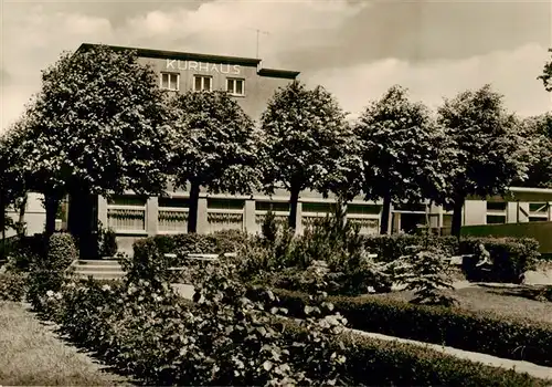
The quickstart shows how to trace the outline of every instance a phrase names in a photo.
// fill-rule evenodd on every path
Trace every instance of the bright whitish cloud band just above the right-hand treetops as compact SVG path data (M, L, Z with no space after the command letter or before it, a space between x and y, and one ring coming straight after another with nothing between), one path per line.
M321 84L332 92L353 116L370 101L380 98L393 84L410 90L410 96L435 109L444 97L490 83L505 95L507 108L521 116L551 109L551 95L537 76L548 57L546 49L527 44L512 51L496 51L469 59L410 63L386 59L349 67L326 69L307 74L310 85Z

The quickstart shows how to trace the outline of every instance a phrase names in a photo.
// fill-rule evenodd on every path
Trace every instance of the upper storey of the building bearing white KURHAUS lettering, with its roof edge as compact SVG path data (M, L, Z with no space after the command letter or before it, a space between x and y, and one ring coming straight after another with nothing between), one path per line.
M84 43L78 50L93 45ZM139 62L151 65L158 74L159 87L168 92L226 91L255 121L261 117L274 92L299 75L298 71L264 69L259 59L108 48L115 51L135 50Z

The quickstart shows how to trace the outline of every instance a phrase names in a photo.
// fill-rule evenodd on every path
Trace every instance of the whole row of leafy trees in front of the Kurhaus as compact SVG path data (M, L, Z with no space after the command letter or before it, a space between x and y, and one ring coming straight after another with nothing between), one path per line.
M170 96L135 52L96 46L45 70L41 92L0 140L0 205L6 212L26 191L44 194L51 233L68 195L70 231L84 249L93 242L97 195L164 195L169 185L190 191L189 232L203 187L285 188L290 227L306 189L346 201L383 199L384 215L392 202L429 199L454 209L458 234L469 195L501 194L512 182L552 185L543 159L552 154L551 122L516 117L486 85L445 100L437 112L393 86L351 124L323 87L293 82L255 125L226 93ZM389 217L382 220L386 232Z

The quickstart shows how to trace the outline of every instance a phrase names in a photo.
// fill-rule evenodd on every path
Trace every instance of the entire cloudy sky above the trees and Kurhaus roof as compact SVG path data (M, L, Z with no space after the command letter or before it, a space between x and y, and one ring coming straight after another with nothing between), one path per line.
M392 85L432 108L490 83L521 116L552 111L552 0L1 0L1 126L40 91L41 71L83 42L256 56L300 71L355 117Z

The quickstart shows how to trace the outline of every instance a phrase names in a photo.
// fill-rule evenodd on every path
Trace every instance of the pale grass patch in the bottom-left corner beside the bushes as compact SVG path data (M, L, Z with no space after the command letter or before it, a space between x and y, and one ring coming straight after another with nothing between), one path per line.
M0 302L0 385L131 385L60 339L22 303Z

